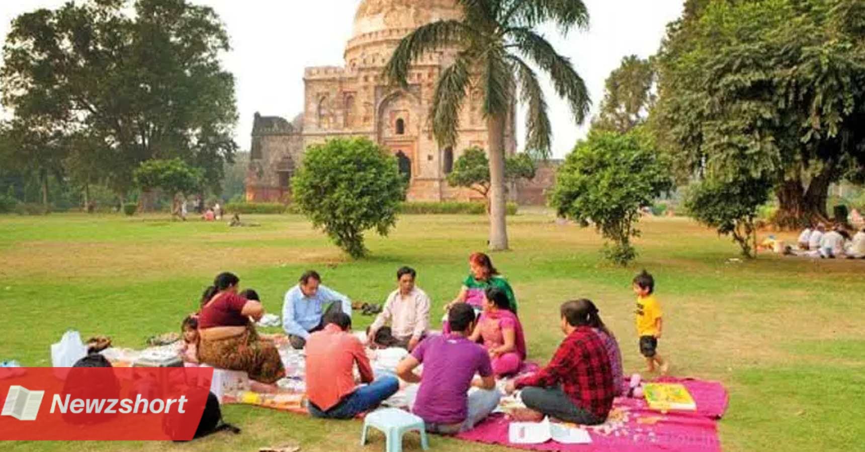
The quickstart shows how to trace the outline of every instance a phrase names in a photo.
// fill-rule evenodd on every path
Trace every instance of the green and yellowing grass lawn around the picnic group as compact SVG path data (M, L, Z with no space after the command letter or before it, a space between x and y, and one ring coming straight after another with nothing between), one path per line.
M49 345L67 328L142 347L151 334L178 331L219 271L237 273L241 286L258 290L266 309L279 313L305 269L353 299L383 302L396 269L410 264L436 304L438 325L440 307L457 294L466 258L484 249L487 232L481 216L403 216L388 238L368 238L370 258L352 262L301 217L244 220L261 227L157 216L0 216L0 360L49 366ZM509 221L513 251L493 261L516 290L530 360L546 363L561 341L559 304L585 296L618 335L625 371L641 371L631 278L646 268L664 308L659 350L672 360L671 373L721 380L731 394L724 449L865 449L865 261L764 255L727 264L738 249L726 238L664 219L644 221L637 263L618 269L600 261L601 240L591 230L545 213ZM356 328L370 321L356 316ZM2 449L240 451L284 442L304 452L363 449L357 422L236 405L224 416L243 433L186 444L18 442ZM406 448L417 450L412 441ZM383 447L374 435L366 449ZM437 436L432 448L501 449Z

